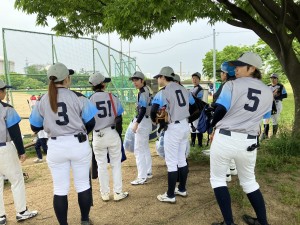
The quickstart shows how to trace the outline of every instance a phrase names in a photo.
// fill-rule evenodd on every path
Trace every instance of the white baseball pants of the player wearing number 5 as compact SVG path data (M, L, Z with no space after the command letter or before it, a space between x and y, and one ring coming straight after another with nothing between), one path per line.
M247 134L231 131L231 136L215 131L210 148L210 183L212 188L227 186L226 172L234 159L238 171L240 185L245 193L251 193L259 189L255 179L255 163L257 149L247 151L256 139L247 139Z

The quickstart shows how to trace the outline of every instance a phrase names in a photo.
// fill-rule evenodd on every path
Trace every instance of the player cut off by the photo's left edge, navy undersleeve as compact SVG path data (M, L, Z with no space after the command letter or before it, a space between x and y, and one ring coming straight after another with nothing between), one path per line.
M11 183L17 221L32 218L38 213L37 211L29 211L26 207L24 177L19 162L19 158L21 162L26 160L19 127L21 118L11 105L2 102L6 96L7 88L10 86L0 80L0 224L6 224L3 201L4 176ZM14 145L11 141L14 142Z

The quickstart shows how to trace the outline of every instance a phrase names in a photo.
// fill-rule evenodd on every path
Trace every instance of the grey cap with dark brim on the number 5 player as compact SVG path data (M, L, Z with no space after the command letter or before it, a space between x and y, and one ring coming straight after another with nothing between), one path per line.
M254 52L245 52L237 60L229 61L234 66L254 66L257 69L262 67L260 56Z

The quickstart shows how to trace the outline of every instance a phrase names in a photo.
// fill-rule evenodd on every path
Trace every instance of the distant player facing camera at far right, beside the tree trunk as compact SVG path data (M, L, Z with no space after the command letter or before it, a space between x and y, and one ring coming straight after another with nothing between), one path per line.
M273 92L273 108L271 113L271 121L273 124L273 135L276 135L278 130L278 120L279 115L282 111L282 100L284 98L287 98L287 92L285 90L285 87L278 83L278 75L276 73L271 74L270 76L271 84L268 86L270 87L271 91ZM262 139L268 138L269 136L269 122L270 120L264 120L264 133L262 135Z

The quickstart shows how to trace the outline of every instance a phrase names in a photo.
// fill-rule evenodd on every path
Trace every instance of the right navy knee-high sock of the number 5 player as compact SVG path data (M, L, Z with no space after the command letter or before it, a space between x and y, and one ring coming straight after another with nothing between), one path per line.
M267 213L266 213L266 206L264 197L260 190L256 190L247 194L247 197L256 213L257 219L261 225L267 225Z

